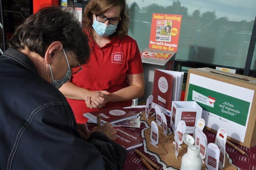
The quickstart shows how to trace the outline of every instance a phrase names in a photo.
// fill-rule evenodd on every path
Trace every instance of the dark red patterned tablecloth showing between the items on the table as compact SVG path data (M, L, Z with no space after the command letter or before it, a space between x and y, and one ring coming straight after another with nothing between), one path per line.
M139 113L141 111L145 110L145 107L129 107L128 110L131 110L135 113ZM167 124L168 127L170 127L170 118L167 117ZM88 123L88 128L91 129L95 124L89 124ZM138 135L141 135L142 129L144 129L146 126L143 122L140 124L140 128L131 128L131 127L122 127L126 130L129 130L131 132L134 132ZM216 134L212 133L206 129L203 130L205 133L208 143L214 143ZM245 148L243 146L240 146L234 142L232 142L234 145L245 151L249 157L241 154L238 152L236 149L234 149L232 146L229 144L226 144L226 153L229 156L229 159L231 159L232 164L237 166L240 170L256 170L256 147L252 148ZM157 162L157 159L155 156L152 156L150 154L147 154L144 152L144 146L137 147L137 150L142 152L144 155L146 155L150 160L152 160L154 163L156 163L159 167L160 170L163 169L163 166ZM130 149L127 151L127 158L125 160L125 163L123 165L122 170L148 170L148 168L142 163L140 160L140 156L135 152L134 149Z

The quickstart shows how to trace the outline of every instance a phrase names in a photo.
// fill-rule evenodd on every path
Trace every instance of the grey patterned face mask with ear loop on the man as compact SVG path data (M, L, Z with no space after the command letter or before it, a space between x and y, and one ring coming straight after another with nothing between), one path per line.
M66 75L61 79L61 80L54 80L53 79L53 74L52 74L52 68L51 68L51 65L49 64L49 67L50 67L50 72L51 72L51 76L52 76L52 85L54 87L56 87L57 89L59 89L64 83L68 82L71 78L71 74L72 74L72 71L69 67L69 63L68 63L68 58L67 58L67 55L64 51L64 49L62 48L63 52L64 52L64 55L66 57L66 60L67 60L67 64L68 64L68 70L67 70L67 73Z

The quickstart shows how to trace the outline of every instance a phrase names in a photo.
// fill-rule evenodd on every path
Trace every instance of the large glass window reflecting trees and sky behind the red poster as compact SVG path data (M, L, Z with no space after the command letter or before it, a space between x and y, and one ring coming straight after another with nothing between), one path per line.
M152 13L181 14L176 60L244 69L256 1L127 0L130 28L140 50L148 48ZM251 68L256 70L254 52Z

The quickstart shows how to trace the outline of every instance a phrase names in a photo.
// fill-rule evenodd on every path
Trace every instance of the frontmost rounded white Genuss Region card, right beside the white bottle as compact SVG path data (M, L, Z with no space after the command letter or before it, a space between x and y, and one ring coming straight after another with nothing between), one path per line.
M220 150L214 143L207 145L205 164L209 170L218 170Z

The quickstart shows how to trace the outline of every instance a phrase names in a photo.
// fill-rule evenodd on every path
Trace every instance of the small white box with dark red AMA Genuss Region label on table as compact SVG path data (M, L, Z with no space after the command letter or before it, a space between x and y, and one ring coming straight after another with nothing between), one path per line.
M201 118L202 108L195 101L173 101L171 111L171 127L177 129L179 121L186 123L186 132L193 134L196 122Z

